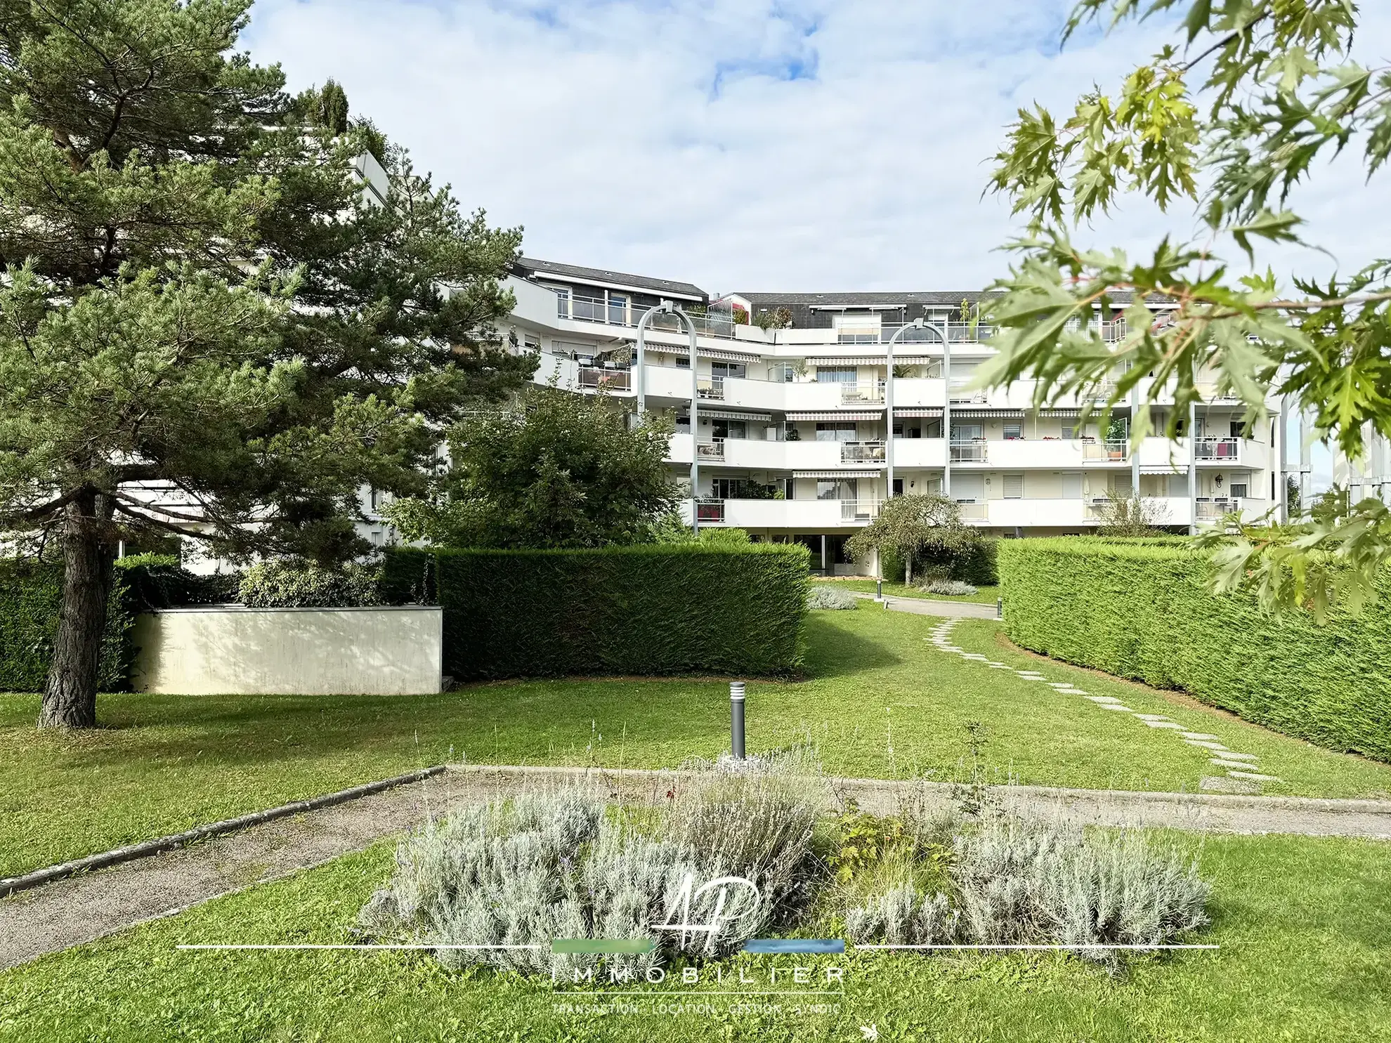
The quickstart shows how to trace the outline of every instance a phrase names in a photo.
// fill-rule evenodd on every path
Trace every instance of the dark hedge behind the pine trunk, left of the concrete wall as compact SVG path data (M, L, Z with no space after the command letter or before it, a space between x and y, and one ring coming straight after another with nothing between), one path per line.
M235 590L232 587L231 590ZM230 599L218 576L193 576L175 558L140 555L115 563L102 641L100 691L129 687L135 613ZM0 559L0 691L42 691L63 606L63 566Z

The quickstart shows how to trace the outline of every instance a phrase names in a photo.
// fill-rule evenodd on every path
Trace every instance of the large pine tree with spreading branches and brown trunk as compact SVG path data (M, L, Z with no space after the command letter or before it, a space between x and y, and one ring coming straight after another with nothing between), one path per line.
M120 540L348 558L359 487L421 488L534 367L488 345L519 234L234 53L249 6L0 0L0 531L65 567L40 726L96 723Z

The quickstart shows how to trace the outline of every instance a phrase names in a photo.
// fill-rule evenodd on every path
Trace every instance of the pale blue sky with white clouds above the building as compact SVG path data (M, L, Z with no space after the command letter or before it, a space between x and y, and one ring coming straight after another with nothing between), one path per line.
M1007 207L982 189L1014 110L1113 88L1163 35L1059 53L1068 6L260 0L246 42L296 89L342 82L466 207L524 224L533 256L711 291L975 289L1004 263ZM1362 39L1388 50L1391 18ZM1355 163L1324 181L1301 195L1314 238L1344 268L1387 253L1367 220L1385 181ZM1095 238L1189 227L1136 206Z

